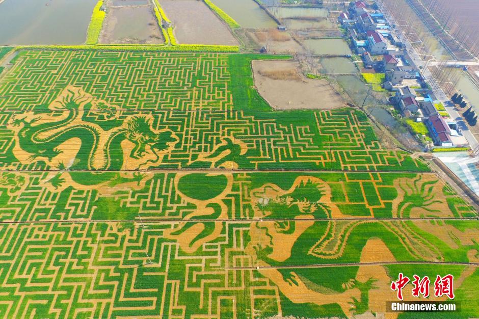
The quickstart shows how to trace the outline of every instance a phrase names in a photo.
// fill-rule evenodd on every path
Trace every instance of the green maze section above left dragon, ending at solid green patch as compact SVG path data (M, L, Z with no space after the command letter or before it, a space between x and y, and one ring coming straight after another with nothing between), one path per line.
M128 111L228 111L229 79L218 54L22 51L0 87L0 110L45 107L73 85Z

